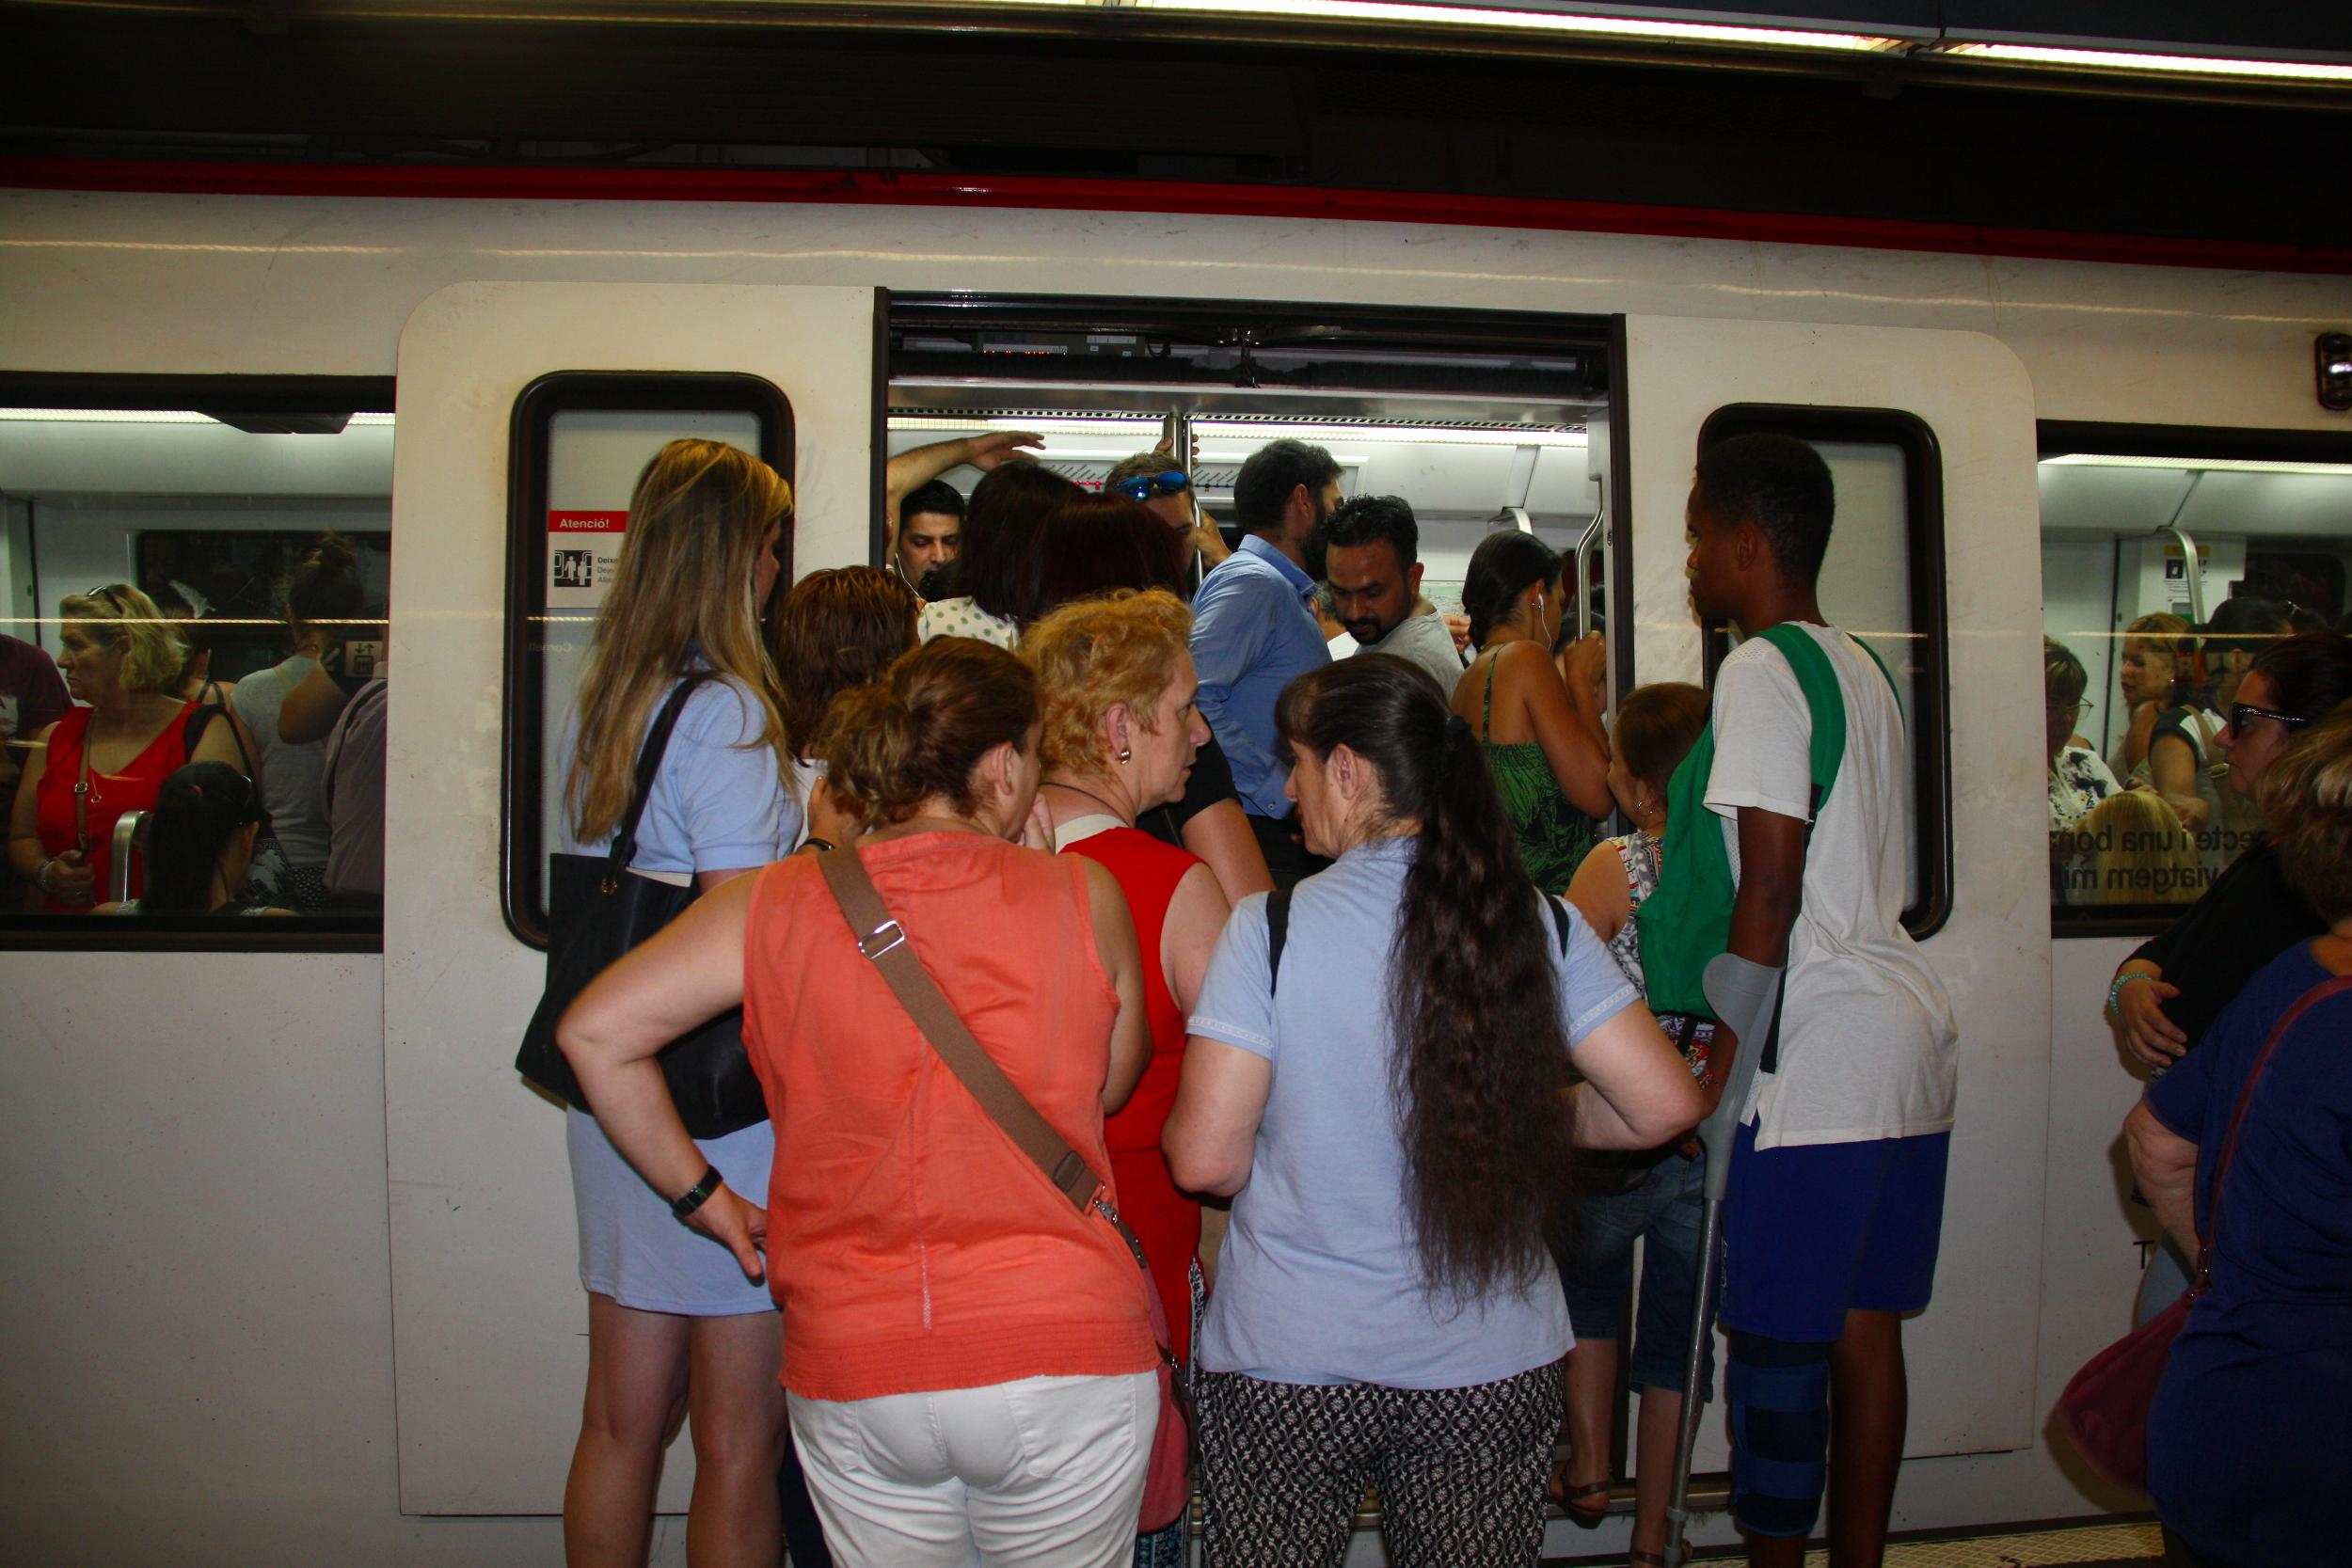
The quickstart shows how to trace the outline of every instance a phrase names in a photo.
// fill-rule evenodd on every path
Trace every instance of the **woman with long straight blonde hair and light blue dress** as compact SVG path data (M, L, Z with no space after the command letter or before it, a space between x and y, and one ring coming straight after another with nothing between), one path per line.
M760 607L793 491L757 458L717 442L663 447L637 477L612 597L569 722L564 849L612 844L654 715L701 677L663 752L637 823L630 872L703 889L779 858L800 830L783 783L776 672ZM567 1140L588 1291L588 1399L564 1486L564 1561L644 1563L661 1450L684 1408L694 1434L687 1542L696 1568L779 1559L783 1460L779 1319L727 1248L670 1215L574 1110ZM729 1187L767 1192L774 1131L757 1121L701 1140Z

